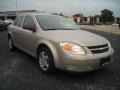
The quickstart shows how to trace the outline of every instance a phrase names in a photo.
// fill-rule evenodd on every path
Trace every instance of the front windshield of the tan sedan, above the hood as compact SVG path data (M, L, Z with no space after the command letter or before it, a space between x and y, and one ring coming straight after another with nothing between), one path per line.
M44 30L78 30L73 20L57 15L36 15L39 25Z

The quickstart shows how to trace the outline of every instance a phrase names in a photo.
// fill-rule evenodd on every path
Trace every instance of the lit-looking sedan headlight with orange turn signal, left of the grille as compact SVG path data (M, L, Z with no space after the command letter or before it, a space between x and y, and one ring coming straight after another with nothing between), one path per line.
M70 53L70 54L85 54L85 50L74 43L70 43L70 42L61 42L60 46L62 48L62 50L66 53Z

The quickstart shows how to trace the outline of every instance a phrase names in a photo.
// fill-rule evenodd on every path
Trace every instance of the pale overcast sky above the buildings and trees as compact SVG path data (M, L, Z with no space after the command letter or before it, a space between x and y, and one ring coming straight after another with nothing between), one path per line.
M83 13L84 16L100 15L101 10L109 9L120 17L120 0L0 0L0 11L38 10L51 13L63 13L72 16Z

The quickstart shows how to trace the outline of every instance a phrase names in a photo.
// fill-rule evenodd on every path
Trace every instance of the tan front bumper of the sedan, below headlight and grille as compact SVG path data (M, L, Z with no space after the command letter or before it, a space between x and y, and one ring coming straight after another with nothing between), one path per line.
M100 69L113 62L113 53L114 51L111 49L109 52L102 54L83 56L63 55L60 57L59 68L74 72L86 72Z

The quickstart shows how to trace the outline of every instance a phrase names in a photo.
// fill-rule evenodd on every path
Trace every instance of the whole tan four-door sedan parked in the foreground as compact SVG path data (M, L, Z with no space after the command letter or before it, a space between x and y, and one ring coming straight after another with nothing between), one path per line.
M113 49L102 36L81 30L73 21L50 14L24 14L8 27L9 49L36 57L40 68L91 71L112 62Z

